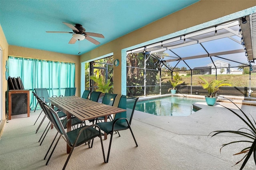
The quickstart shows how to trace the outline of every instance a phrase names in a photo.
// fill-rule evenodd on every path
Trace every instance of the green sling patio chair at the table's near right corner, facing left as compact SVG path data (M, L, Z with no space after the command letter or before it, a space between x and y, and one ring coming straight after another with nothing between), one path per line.
M122 95L120 98L118 107L122 109L126 109L126 111L122 113L117 113L114 120L111 122L96 123L96 125L98 125L102 131L106 132L106 134L111 134L106 162L108 162L108 159L109 159L110 148L111 148L114 132L130 129L130 132L132 133L132 129L130 125L132 123L132 116L133 116L137 101L138 101L138 97L135 98L135 97L128 97L128 96ZM118 135L120 136L119 133ZM133 133L132 133L132 137L134 139L136 146L138 146Z

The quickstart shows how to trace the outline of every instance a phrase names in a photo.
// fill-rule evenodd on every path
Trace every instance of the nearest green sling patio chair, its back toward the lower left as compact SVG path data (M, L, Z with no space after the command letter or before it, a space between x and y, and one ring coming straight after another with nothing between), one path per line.
M74 148L77 146L80 146L81 144L84 144L85 142L89 142L90 140L92 140L92 144L91 144L91 146L90 146L90 144L88 144L88 146L89 146L89 148L92 148L93 139L96 137L100 138L103 159L104 159L104 162L106 162L103 143L102 143L102 133L100 132L100 127L98 127L97 125L84 126L84 127L76 128L74 130L66 132L62 123L60 122L60 119L59 119L57 113L52 108L50 108L48 105L46 105L45 103L42 103L42 104L47 108L48 114L50 115L50 118L52 119L52 123L54 124L54 127L56 128L58 133L60 133L60 136L58 137L58 140L56 141L56 143L52 149L52 152L46 162L46 165L48 164L48 162L52 156L52 153L54 152L54 150L58 144L58 141L60 140L61 137L64 138L66 143L71 148L70 153L68 154L68 158L62 168L63 170L66 168L66 165L68 164L68 160L69 160L72 152L74 151ZM45 160L45 158L44 158L44 160Z

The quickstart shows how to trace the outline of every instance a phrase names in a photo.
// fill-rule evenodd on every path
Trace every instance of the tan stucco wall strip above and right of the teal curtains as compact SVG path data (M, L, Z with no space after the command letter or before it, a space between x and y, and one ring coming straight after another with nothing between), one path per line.
M75 63L76 65L76 75L75 75L76 96L80 96L80 62L79 62L78 55L56 53L56 52L44 51L40 49L18 47L14 45L9 45L8 55Z

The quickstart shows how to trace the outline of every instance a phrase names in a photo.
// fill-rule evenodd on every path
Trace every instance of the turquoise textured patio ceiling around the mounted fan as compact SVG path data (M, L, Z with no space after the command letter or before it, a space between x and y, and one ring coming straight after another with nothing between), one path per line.
M0 24L9 45L78 55L68 44L69 24L104 35L100 45L124 36L199 0L0 0ZM92 37L94 38L94 37ZM100 45L80 41L80 55Z

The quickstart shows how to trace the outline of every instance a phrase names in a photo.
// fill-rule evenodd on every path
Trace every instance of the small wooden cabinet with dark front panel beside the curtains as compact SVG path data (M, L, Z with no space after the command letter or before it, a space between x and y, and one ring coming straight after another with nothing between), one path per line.
M12 115L28 114L30 117L29 90L8 91L8 118Z

